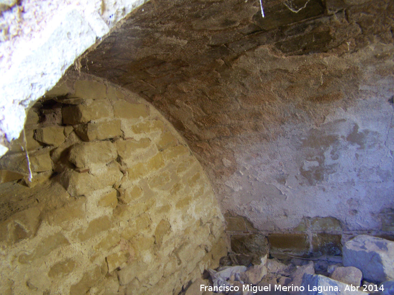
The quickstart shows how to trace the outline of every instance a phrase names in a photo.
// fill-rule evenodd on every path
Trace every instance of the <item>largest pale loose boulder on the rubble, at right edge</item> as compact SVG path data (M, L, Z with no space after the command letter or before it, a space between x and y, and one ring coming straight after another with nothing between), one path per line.
M394 279L394 242L360 235L347 241L342 251L343 265L359 268L365 280L383 282Z

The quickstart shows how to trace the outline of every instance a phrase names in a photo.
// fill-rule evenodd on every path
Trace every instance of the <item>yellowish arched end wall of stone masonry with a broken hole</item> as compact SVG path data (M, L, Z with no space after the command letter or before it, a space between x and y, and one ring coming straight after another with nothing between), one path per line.
M151 105L91 77L46 96L0 159L0 294L178 294L218 264L210 182Z

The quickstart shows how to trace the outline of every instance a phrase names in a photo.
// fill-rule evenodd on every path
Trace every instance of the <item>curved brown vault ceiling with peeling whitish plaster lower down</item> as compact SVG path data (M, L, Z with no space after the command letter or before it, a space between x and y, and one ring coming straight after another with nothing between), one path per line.
M163 112L224 213L264 232L304 216L381 230L373 216L394 189L393 1L263 6L264 18L259 1L147 2L83 70Z

